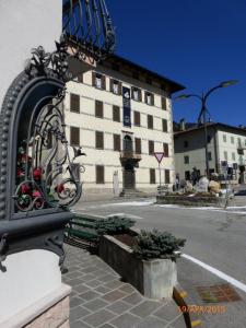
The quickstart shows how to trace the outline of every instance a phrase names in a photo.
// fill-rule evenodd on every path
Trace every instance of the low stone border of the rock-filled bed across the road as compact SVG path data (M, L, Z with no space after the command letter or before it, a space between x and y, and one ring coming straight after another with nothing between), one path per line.
M165 196L165 195L157 195L156 202L160 204L184 204L184 206L222 206L223 199L219 197L189 197L189 196Z

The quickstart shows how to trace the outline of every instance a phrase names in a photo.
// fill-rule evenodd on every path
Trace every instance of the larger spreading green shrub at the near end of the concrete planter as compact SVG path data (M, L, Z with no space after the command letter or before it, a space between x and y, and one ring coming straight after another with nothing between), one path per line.
M185 246L186 239L176 238L168 232L153 230L141 231L137 237L137 245L132 246L133 255L139 259L171 259L176 261L178 250Z

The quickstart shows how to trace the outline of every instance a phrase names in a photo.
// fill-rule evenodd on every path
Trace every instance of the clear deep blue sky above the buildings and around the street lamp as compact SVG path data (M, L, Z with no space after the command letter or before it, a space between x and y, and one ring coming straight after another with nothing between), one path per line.
M116 54L185 85L206 92L212 120L246 125L245 0L107 0L117 33ZM178 95L175 94L174 96ZM196 98L173 103L174 118L196 120Z

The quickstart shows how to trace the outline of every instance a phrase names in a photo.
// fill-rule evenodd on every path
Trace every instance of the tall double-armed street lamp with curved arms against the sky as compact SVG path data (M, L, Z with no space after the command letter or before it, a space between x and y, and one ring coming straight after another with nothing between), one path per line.
M208 128L207 128L207 99L210 96L210 94L212 92L214 92L215 90L220 89L220 87L226 87L233 84L236 84L238 81L237 80L229 80L229 81L224 81L221 82L219 85L211 87L206 94L181 94L179 96L177 96L175 99L185 99L185 98L189 98L189 97L197 97L200 99L201 102L201 109L199 113L199 117L198 117L198 124L201 124L201 118L203 120L203 128L204 128L204 149L206 149L206 175L207 177L209 177L209 156L208 156Z

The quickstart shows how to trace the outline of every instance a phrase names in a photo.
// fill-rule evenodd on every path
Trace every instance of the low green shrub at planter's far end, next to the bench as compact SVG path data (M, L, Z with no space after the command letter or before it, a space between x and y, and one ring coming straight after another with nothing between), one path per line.
M98 235L117 235L127 233L133 225L134 221L129 218L112 215L106 219L97 220L96 231Z

